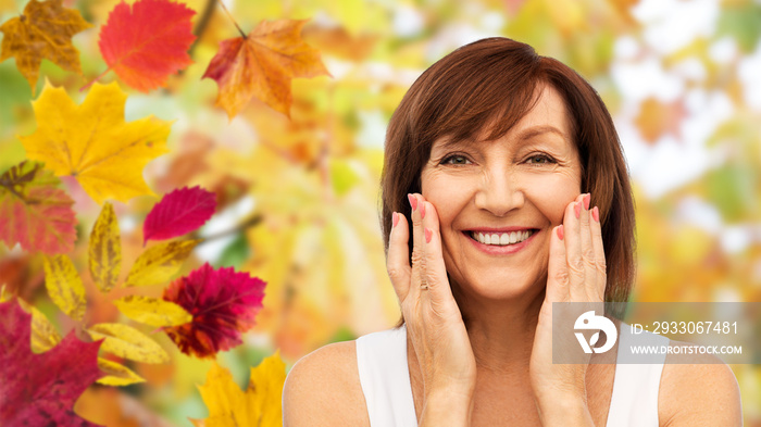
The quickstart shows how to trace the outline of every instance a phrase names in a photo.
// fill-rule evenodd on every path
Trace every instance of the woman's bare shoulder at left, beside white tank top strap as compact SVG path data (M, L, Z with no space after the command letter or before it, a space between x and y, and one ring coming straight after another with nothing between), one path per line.
M325 346L294 365L283 388L283 425L370 425L354 341Z

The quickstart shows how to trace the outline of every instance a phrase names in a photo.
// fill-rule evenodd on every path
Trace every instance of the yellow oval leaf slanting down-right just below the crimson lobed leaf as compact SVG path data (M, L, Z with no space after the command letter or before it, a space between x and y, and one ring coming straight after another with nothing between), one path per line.
M103 340L103 351L145 363L165 363L170 356L155 341L132 326L98 324L87 329L93 340Z

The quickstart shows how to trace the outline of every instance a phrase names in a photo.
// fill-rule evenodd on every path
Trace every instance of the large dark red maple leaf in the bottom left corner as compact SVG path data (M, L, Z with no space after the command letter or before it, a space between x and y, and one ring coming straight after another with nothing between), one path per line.
M50 351L35 354L30 323L15 300L0 304L0 425L97 427L72 406L103 376L101 341L82 342L71 331Z

